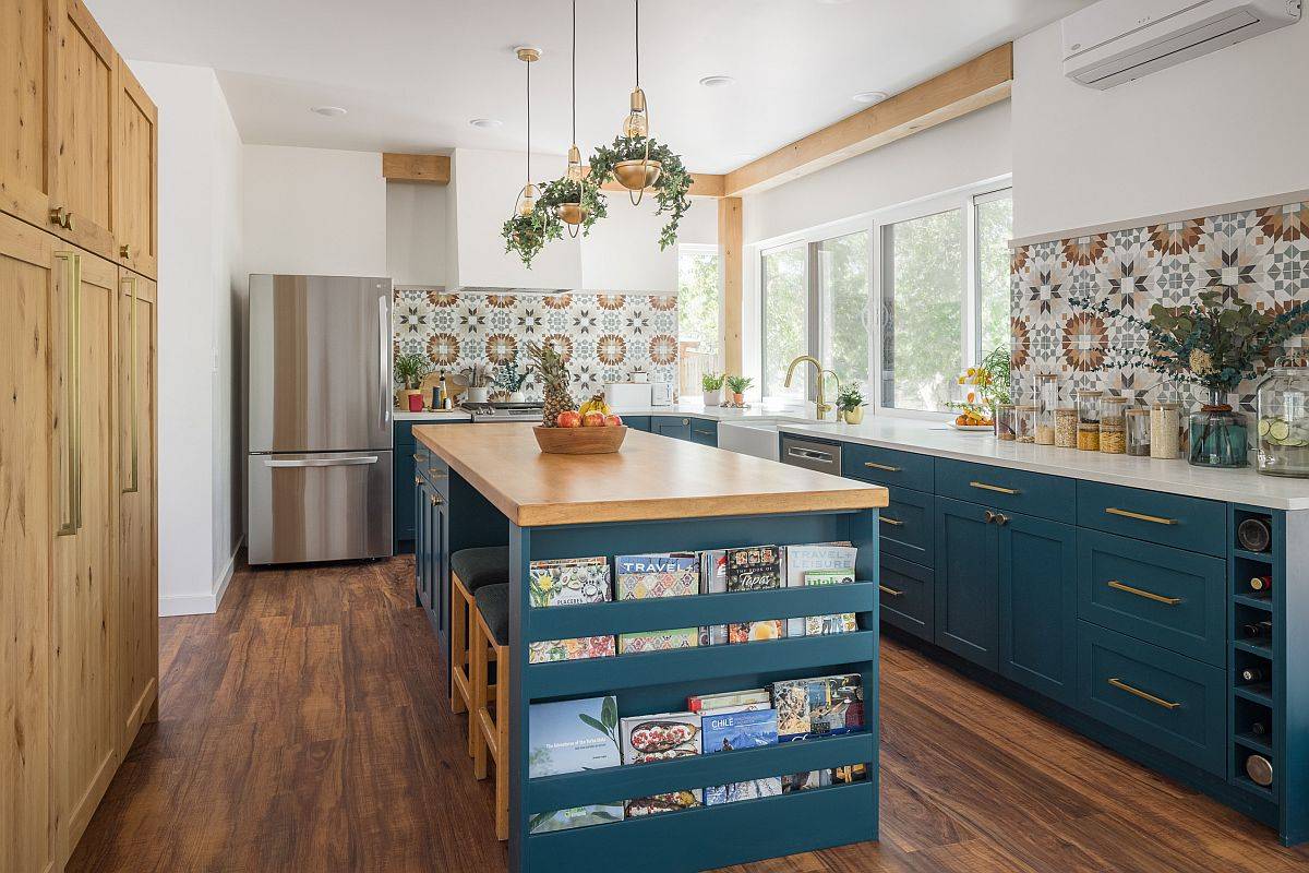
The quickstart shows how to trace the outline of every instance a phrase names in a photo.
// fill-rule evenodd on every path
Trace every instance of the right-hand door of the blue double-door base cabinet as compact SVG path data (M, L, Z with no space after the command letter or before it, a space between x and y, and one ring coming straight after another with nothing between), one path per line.
M1000 673L1072 705L1077 666L1076 534L1028 516L1000 526Z

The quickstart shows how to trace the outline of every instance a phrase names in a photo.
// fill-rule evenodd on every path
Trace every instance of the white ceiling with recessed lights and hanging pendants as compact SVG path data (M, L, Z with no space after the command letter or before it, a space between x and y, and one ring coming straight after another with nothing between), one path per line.
M246 143L432 152L568 149L569 0L86 0L128 59L219 71ZM1035 30L1089 0L647 0L653 135L721 173ZM610 141L632 88L632 4L577 1L577 139ZM737 84L704 88L728 75ZM323 118L312 106L346 107ZM473 118L496 118L476 130Z

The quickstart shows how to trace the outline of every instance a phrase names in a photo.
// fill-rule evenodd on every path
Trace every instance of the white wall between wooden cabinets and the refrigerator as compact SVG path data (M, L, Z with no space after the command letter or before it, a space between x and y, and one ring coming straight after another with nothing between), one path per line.
M160 119L160 613L212 613L240 541L240 139L212 69L128 64Z

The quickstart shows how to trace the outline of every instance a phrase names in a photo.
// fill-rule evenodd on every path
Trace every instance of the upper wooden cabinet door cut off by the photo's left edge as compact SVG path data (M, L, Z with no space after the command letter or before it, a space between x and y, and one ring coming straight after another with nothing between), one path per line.
M50 220L56 0L0 3L0 211Z

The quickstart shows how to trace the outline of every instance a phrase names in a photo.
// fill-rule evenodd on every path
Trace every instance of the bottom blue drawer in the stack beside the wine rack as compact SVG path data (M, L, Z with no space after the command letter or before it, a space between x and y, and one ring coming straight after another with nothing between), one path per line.
M1227 671L1077 623L1077 703L1141 742L1227 774Z

